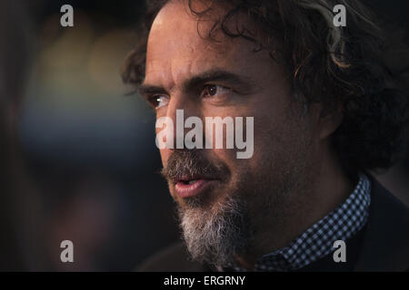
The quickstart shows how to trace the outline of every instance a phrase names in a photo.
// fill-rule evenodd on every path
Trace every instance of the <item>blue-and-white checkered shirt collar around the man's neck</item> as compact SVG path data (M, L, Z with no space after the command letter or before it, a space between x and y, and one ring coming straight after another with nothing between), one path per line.
M254 271L288 271L307 266L334 251L334 241L345 241L364 227L371 203L371 182L360 175L354 192L344 203L309 227L288 246L257 259ZM244 268L234 267L236 271Z

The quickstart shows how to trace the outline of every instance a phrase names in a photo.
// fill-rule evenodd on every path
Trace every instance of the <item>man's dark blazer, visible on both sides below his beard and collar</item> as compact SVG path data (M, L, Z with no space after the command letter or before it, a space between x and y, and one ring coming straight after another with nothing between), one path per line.
M371 178L371 206L354 271L409 271L409 208ZM347 249L348 251L348 249ZM190 261L182 242L149 258L137 271L208 271ZM322 269L325 271L325 268Z

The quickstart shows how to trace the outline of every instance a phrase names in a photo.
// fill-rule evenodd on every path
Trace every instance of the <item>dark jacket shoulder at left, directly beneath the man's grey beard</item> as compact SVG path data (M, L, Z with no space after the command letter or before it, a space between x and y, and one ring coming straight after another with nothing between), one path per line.
M136 268L137 272L203 272L205 267L194 262L183 242L165 247Z

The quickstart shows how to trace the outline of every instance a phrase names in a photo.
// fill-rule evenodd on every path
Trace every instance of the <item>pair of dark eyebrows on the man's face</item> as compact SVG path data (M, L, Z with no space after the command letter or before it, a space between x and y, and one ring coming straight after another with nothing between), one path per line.
M244 93L249 92L254 85L254 81L243 75L230 73L224 70L210 70L204 73L195 75L183 83L183 90L185 92L192 90L206 82L234 82L234 84ZM165 88L149 83L142 83L138 92L142 95L154 93L168 93Z

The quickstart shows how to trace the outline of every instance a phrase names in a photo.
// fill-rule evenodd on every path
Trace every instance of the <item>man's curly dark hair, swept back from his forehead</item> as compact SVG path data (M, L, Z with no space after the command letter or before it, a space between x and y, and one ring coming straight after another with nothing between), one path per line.
M147 34L155 15L168 1L149 1L141 43L125 63L125 82L135 85L143 82ZM292 80L294 97L304 102L305 108L311 102L323 103L328 111L337 104L344 105L344 120L334 131L332 142L347 172L387 169L405 150L409 53L404 41L392 43L390 34L374 24L374 14L361 1L195 1L211 4L205 11L196 11L194 0L186 0L198 21L215 5L229 7L207 36L212 37L214 30L220 29L230 37L244 37L257 43L259 48L254 52L269 50L274 61L283 62ZM333 24L334 6L340 4L347 10L344 27ZM268 35L269 40L264 43L273 43L274 39L274 47L259 43L237 21L236 15L243 12ZM232 22L234 25L229 25ZM391 61L394 65L390 65Z

